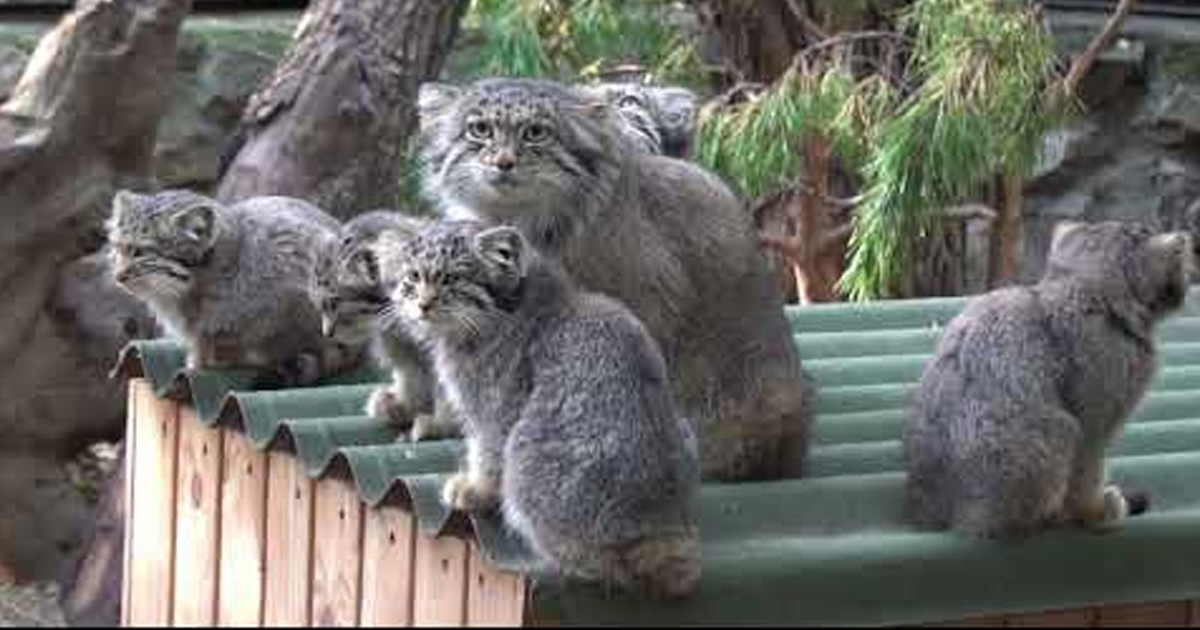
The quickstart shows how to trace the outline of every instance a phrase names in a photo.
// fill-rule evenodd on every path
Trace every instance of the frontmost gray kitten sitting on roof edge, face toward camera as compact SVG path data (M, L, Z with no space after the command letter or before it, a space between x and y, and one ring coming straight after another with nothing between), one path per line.
M502 508L568 577L691 593L695 437L632 313L577 290L510 227L445 222L385 236L379 252L395 316L432 346L464 421L467 457L445 503Z

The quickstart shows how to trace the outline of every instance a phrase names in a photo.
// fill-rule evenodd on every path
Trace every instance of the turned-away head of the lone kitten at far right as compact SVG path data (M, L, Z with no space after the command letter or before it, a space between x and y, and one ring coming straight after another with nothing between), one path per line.
M1186 232L1157 234L1123 222L1060 223L1049 258L1050 274L1116 283L1152 313L1183 306L1195 274L1195 250Z

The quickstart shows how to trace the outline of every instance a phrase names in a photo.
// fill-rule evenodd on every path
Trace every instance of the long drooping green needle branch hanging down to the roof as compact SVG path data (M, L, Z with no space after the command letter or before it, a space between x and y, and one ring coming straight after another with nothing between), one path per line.
M995 0L919 0L916 91L878 131L878 149L842 278L853 299L888 295L911 239L997 173L1026 175L1061 113L1046 110L1054 49L1027 8Z

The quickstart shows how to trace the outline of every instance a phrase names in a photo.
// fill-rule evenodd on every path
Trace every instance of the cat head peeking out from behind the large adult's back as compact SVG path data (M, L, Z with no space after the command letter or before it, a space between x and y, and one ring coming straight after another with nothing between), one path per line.
M652 154L688 157L696 121L696 94L686 88L598 83L580 88L611 103L632 140Z

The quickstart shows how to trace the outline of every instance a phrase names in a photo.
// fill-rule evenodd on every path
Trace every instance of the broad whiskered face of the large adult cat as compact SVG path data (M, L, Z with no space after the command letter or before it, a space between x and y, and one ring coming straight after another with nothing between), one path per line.
M569 206L594 186L612 125L607 104L550 82L421 86L422 163L433 196L505 218Z

